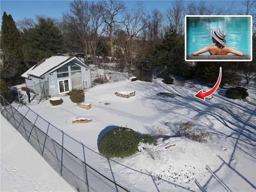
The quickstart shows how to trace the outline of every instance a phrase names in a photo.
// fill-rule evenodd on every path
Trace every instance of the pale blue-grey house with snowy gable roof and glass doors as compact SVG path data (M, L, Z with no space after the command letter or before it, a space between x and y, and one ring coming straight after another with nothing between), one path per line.
M28 88L48 97L91 87L91 70L75 56L52 56L42 59L22 77Z

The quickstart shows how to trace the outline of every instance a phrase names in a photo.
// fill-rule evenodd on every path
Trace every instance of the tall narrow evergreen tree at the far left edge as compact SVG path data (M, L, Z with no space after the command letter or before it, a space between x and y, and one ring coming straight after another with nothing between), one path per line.
M20 32L12 16L4 12L1 26L1 78L8 85L22 82L20 75L26 71Z

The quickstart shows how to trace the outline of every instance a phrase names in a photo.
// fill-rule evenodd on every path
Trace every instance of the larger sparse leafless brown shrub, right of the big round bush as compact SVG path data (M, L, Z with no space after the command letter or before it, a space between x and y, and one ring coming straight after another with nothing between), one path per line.
M178 126L178 132L176 133L178 136L184 136L200 143L212 140L211 133L201 132L201 130L198 127L195 127L195 124L193 124L192 122L185 123L180 121L176 122L175 124L176 126Z

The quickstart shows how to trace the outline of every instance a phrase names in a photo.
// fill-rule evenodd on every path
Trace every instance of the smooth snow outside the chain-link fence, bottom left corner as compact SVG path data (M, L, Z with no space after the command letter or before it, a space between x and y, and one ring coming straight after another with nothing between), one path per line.
M75 191L2 115L0 120L0 191Z

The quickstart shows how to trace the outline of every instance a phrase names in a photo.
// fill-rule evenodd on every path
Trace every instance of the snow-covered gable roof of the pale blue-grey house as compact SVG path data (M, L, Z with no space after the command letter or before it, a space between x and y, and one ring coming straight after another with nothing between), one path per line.
M29 76L42 77L47 72L53 70L54 68L60 66L61 64L67 63L73 58L75 59L76 57L75 56L52 56L48 59L44 58L40 62L38 62L34 67L27 70L21 76L24 78L29 78Z

